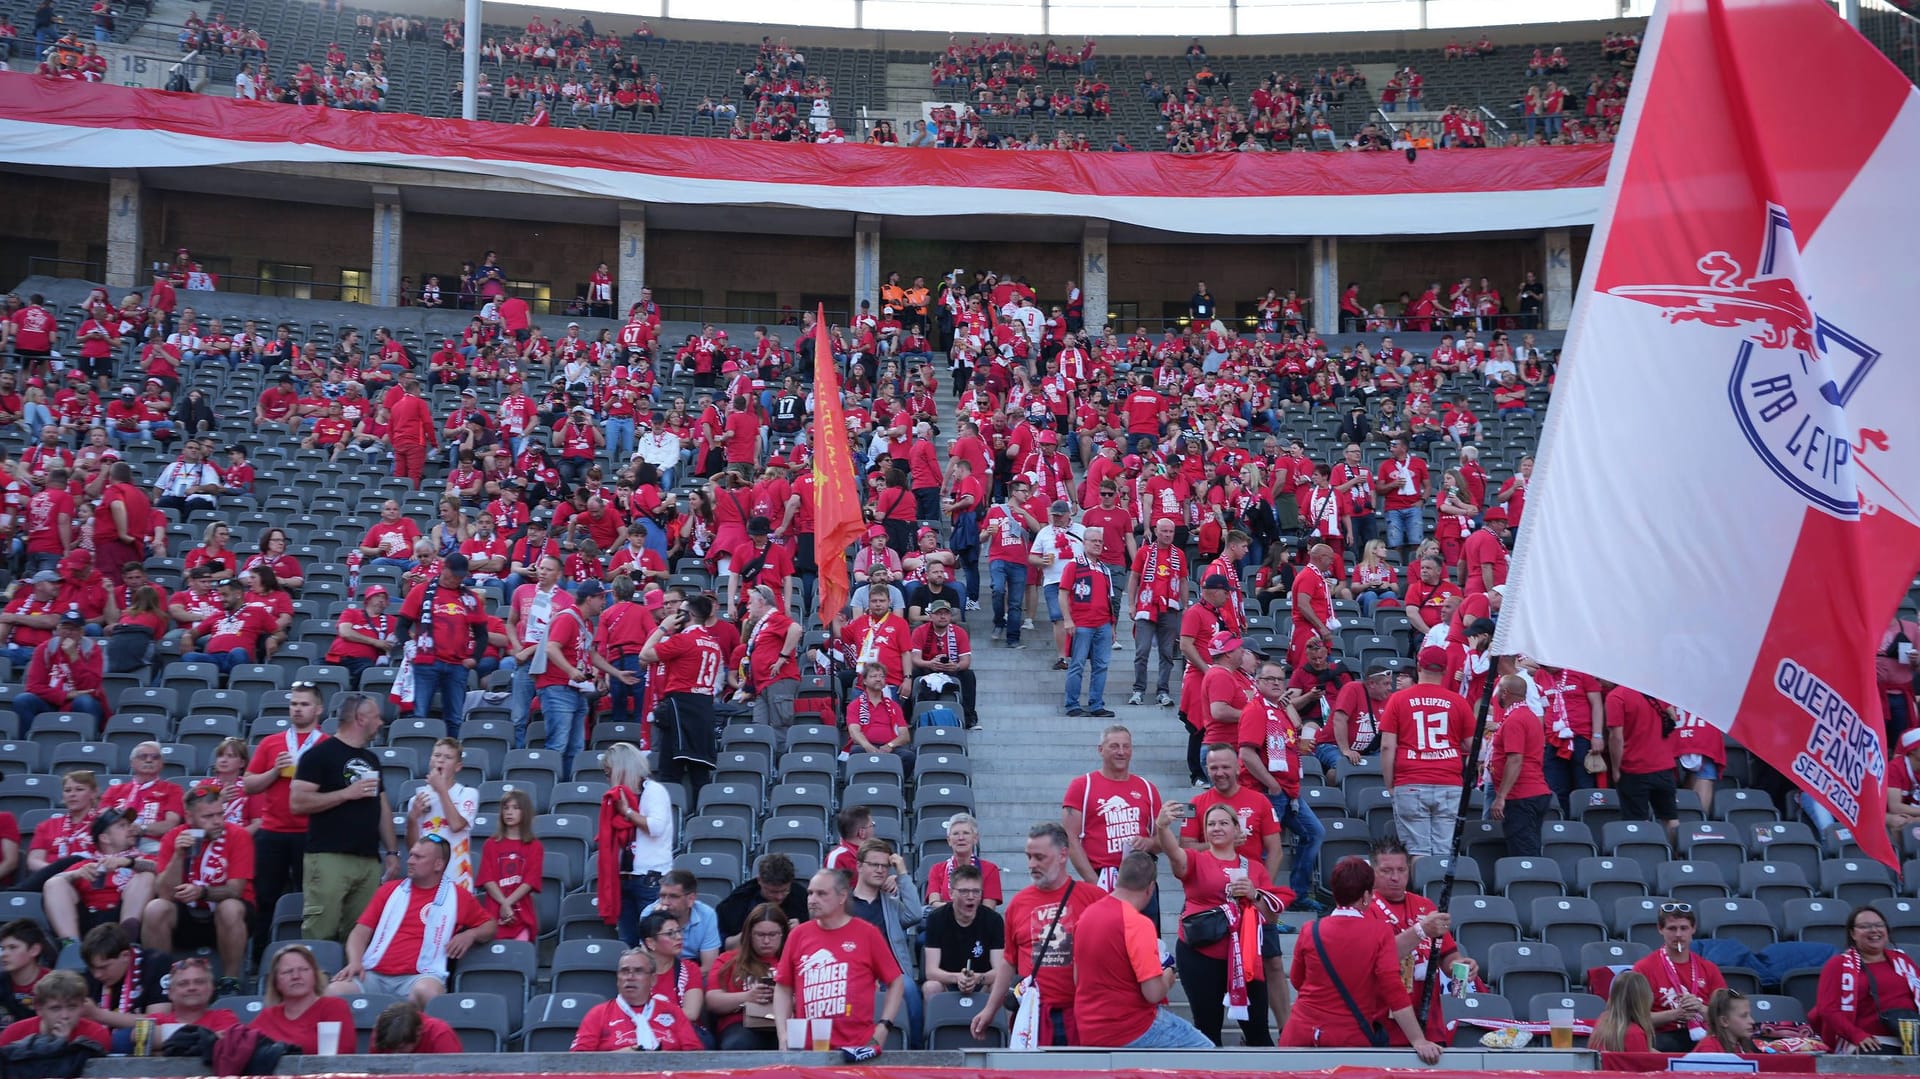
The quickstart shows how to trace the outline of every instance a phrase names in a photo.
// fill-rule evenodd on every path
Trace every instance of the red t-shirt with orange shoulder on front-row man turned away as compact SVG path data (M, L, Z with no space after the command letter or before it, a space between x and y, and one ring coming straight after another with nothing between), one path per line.
M1133 1044L1160 1012L1160 1004L1140 996L1140 983L1162 973L1160 929L1133 904L1108 895L1079 918L1079 958L1073 981L1077 1044Z

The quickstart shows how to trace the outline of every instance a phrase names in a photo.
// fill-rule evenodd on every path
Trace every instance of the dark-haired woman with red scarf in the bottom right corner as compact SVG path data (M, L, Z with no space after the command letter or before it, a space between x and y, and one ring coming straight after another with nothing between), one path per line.
M1820 970L1814 1031L1836 1052L1897 1052L1895 1014L1912 1016L1920 1008L1920 970L1912 956L1887 945L1887 920L1878 908L1853 908L1847 945ZM1705 960L1695 956L1695 962Z

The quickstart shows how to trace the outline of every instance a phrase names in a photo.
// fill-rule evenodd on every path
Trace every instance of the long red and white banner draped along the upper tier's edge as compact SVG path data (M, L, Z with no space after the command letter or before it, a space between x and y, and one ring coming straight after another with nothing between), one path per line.
M365 163L689 205L1123 221L1202 236L1590 225L1609 146L1402 154L1066 154L808 146L515 127L0 75L0 161L77 169Z

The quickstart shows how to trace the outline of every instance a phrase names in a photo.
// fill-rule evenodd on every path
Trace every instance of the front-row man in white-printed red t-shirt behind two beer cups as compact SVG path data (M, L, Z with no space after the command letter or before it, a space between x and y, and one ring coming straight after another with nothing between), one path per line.
M806 883L812 920L787 935L774 971L774 1033L781 1050L801 1048L787 1043L787 1019L831 1019L829 1044L852 1062L879 1056L887 1035L899 1029L906 975L879 929L852 916L849 899L847 877L837 872L820 870ZM876 987L885 987L877 1021Z

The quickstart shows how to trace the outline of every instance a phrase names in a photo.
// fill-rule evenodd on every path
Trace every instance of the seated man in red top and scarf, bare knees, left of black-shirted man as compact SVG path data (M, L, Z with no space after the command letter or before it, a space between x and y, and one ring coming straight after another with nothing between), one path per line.
M253 922L253 837L227 822L221 785L207 779L186 795L186 824L159 843L159 879L140 918L140 939L156 950L213 947L221 970L246 970ZM238 977L221 995L240 993Z

